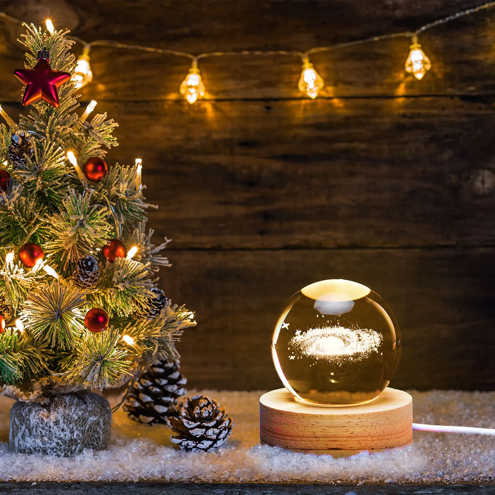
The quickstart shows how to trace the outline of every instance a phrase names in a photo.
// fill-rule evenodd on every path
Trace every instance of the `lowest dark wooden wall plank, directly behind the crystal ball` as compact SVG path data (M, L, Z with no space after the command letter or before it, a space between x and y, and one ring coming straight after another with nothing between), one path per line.
M173 251L162 274L198 327L177 347L191 388L281 387L270 353L286 299L315 280L370 287L402 334L394 388L493 390L495 249Z

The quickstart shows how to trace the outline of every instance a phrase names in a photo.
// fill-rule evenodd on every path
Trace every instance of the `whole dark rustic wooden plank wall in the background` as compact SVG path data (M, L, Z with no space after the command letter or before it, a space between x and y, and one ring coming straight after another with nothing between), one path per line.
M481 1L0 1L87 41L185 50L298 49L413 30ZM495 386L495 11L425 33L433 68L406 75L409 40L312 57L327 87L297 90L300 60L200 63L207 99L178 94L186 59L94 48L99 101L120 127L108 161L143 157L162 286L197 312L178 345L192 387L280 386L270 337L285 299L347 278L396 313L398 388ZM0 103L15 116L18 26L0 24ZM80 47L76 50L80 51Z

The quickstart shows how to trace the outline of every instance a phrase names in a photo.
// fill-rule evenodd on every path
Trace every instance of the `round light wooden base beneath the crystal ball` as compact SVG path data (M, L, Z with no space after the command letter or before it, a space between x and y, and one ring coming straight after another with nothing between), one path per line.
M347 457L380 452L412 442L412 397L385 389L367 404L319 407L300 404L287 389L259 398L262 444L295 452Z

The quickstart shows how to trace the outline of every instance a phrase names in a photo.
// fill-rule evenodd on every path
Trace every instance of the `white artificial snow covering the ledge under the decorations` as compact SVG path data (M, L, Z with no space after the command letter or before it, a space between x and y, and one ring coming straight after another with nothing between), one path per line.
M414 432L410 446L350 458L294 453L259 444L259 396L263 392L213 392L234 418L232 435L211 453L187 453L169 440L165 426L114 414L107 450L73 458L9 451L9 409L0 397L1 481L177 482L379 482L484 483L495 481L495 437ZM190 391L189 395L194 395ZM495 428L495 392L412 392L416 423ZM117 402L115 398L113 402Z

